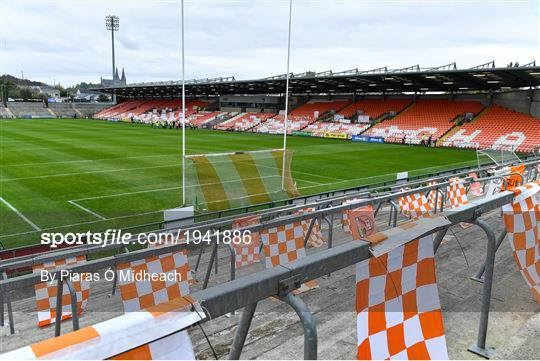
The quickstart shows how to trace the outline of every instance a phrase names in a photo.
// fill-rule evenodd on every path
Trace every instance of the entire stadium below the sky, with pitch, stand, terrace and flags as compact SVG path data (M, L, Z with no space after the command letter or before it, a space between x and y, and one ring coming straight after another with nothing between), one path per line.
M540 357L535 61L295 73L287 1L285 73L189 79L181 4L182 80L113 15L106 101L3 77L0 359Z

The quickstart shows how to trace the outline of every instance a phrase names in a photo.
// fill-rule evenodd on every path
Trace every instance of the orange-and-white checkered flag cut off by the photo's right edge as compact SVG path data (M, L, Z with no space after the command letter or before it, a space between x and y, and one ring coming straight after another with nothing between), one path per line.
M516 265L540 303L540 181L513 191L514 202L502 207L504 224Z

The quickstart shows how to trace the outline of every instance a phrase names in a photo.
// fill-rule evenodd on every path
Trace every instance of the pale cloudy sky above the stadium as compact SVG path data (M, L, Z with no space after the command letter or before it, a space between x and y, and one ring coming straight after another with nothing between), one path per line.
M0 0L0 73L70 86L181 79L179 0ZM286 72L288 0L185 0L186 78ZM291 71L540 62L539 0L293 0Z

